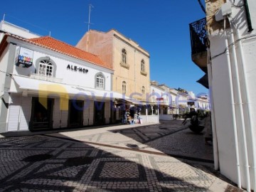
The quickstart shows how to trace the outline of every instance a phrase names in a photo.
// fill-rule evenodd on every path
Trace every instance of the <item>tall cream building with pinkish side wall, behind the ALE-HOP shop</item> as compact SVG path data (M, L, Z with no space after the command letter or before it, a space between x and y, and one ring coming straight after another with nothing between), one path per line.
M99 55L114 70L112 91L146 101L150 92L149 53L118 31L90 30L80 39L77 48Z

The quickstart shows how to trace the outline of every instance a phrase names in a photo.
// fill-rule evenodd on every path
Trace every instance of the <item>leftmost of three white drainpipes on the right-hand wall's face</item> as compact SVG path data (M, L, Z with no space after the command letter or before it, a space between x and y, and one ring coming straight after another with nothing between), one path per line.
M224 18L224 36L225 36L225 48L227 48L225 55L228 62L228 79L230 82L230 100L231 100L231 110L232 110L232 122L233 122L233 131L235 137L235 157L237 161L237 171L238 171L238 187L241 188L241 174L240 174L240 161L239 161L239 150L238 150L238 130L235 118L235 102L234 102L234 95L233 95L233 81L232 81L232 74L230 68L230 53L228 50L228 36L225 29L226 19Z

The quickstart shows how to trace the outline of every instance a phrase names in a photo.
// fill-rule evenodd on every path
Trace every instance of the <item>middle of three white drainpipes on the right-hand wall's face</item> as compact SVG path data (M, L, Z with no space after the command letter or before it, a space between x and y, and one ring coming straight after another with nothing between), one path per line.
M228 17L228 21L230 23L230 40L231 42L235 42L235 38L233 35L233 28L232 24L230 21L230 17ZM246 132L245 132L245 117L244 117L244 112L242 109L242 95L241 95L241 85L240 85L240 77L238 73L238 60L237 60L237 53L235 50L235 45L232 46L232 52L233 52L233 71L235 72L235 87L237 89L237 96L238 96L238 110L240 112L240 119L241 119L241 125L242 125L242 142L243 142L243 147L244 147L244 152L245 152L245 173L246 173L246 178L247 178L247 191L250 191L250 171L249 171L249 162L248 162L248 150L247 150L247 139L246 139Z

